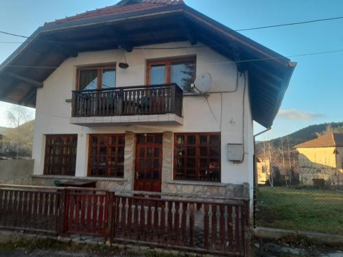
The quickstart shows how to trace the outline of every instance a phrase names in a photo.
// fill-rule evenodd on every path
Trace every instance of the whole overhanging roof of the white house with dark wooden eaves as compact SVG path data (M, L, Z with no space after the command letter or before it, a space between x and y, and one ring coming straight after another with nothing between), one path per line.
M202 42L248 71L252 119L272 125L296 63L176 0L123 0L45 23L0 65L0 101L35 107L37 88L79 52L178 41Z

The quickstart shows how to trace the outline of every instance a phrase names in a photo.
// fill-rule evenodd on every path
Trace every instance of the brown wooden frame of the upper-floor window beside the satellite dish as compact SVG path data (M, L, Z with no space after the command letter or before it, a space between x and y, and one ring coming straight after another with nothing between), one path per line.
M146 85L150 85L150 71L153 65L158 64L165 64L165 84L169 84L171 79L171 64L173 62L189 62L194 61L196 62L196 56L183 56L183 57L171 57L171 58L163 58L163 59L153 59L146 61L146 73L145 73L145 83ZM196 78L196 67L194 68L194 79ZM180 85L178 85L180 86Z

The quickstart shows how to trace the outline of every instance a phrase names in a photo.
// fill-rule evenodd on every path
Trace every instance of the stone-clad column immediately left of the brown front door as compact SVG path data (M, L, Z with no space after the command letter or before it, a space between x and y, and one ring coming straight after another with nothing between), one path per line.
M134 189L134 160L136 158L136 134L134 132L125 133L124 150L124 184L125 190Z

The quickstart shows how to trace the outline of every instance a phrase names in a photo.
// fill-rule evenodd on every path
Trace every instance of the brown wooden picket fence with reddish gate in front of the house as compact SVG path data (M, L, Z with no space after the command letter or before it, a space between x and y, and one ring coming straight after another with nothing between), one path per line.
M248 256L249 201L0 185L0 229L87 234L119 243Z

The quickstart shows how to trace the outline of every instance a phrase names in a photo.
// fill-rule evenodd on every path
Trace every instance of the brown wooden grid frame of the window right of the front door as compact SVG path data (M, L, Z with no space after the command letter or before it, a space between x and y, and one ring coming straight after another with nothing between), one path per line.
M184 136L184 143L177 143L177 137L178 136ZM196 136L196 143L195 144L189 144L187 143L187 136ZM206 144L201 144L200 143L200 136L207 136L207 142ZM210 136L219 136L219 142L217 144L211 144L209 143L210 141ZM207 154L204 156L200 155L200 147L207 147ZM185 149L187 149L187 147L195 147L196 148L196 153L193 156L191 156L191 158L195 158L196 159L196 167L194 168L195 170L195 175L196 178L194 179L189 179L187 178L187 169L189 169L187 167L187 154L185 154L184 160L185 160L185 164L184 166L181 167L177 167L177 147L185 147ZM219 155L218 156L211 156L209 153L209 147L219 147ZM221 182L221 173L222 173L222 160L221 160L221 155L222 155L222 138L221 138L221 133L220 132L196 132L196 133L174 133L174 165L173 165L173 178L174 180L180 180L180 181L203 181L203 182ZM207 179L200 179L200 170L203 169L200 167L200 159L217 159L218 160L218 164L219 164L219 171L217 176L214 174L214 176L212 177L211 180L211 175L209 175L209 178ZM181 170L183 169L183 176L185 178L177 178L177 172L176 170ZM211 168L208 168L211 169ZM213 178L216 178L215 180L213 180Z

